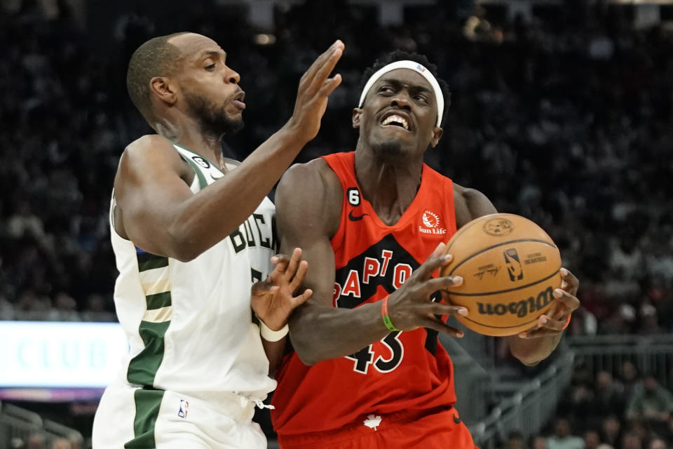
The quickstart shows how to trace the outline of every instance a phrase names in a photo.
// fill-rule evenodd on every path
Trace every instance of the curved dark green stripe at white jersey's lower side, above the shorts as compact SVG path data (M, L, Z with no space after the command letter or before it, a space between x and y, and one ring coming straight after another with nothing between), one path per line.
M138 332L145 347L128 363L126 378L130 384L154 386L154 376L163 360L163 336L169 324L170 321L163 323L140 321Z

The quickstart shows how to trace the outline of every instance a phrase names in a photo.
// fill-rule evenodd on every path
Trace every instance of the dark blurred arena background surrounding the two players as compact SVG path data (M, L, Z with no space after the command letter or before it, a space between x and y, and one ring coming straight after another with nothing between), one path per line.
M453 95L426 161L542 225L581 281L582 307L539 366L501 340L442 339L477 443L673 447L671 3L1 1L0 449L88 447L124 350L109 324L111 185L125 145L150 131L125 69L144 40L184 30L218 41L241 74L246 126L223 149L237 159L290 117L334 39L344 82L298 162L354 148L351 109L377 56L428 55ZM268 414L257 420L276 447Z

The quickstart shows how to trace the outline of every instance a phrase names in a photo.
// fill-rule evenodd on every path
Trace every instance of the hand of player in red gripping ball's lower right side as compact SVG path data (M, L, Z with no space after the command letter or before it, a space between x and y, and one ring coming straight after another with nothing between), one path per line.
M536 326L526 332L519 334L522 338L538 338L546 337L548 335L555 335L562 333L568 323L570 314L580 307L580 300L577 299L577 289L580 286L580 281L569 272L562 268L559 270L563 279L561 288L554 290L554 303L547 314L538 317Z

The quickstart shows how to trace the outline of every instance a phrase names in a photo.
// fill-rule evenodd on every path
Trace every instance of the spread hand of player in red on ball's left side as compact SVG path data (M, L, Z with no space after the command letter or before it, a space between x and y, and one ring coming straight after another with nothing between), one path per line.
M432 277L435 270L450 264L453 259L450 254L444 254L445 247L444 243L440 243L428 260L390 295L388 314L397 329L430 328L454 337L463 337L461 330L447 326L437 316L467 315L468 309L433 302L431 299L437 290L449 290L452 286L459 286L463 282L461 276Z

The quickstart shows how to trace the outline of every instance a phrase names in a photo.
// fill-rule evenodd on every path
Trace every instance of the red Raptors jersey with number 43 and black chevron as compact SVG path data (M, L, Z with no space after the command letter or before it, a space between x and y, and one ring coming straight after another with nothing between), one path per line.
M334 307L353 309L399 288L442 241L456 232L453 183L423 164L409 208L387 226L362 198L355 153L325 156L344 189L341 223L332 239ZM273 426L280 435L338 429L360 415L451 406L453 366L428 329L397 331L351 356L306 366L285 357L276 375Z

